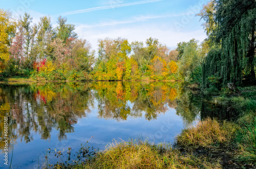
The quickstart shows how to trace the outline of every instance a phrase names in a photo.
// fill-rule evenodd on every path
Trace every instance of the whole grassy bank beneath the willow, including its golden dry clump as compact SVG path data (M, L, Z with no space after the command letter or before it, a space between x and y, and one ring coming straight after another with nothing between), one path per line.
M239 88L237 92L224 90L209 102L227 106L229 111L239 114L229 122L204 119L183 130L176 138L177 146L199 156L212 156L224 168L255 168L256 87Z

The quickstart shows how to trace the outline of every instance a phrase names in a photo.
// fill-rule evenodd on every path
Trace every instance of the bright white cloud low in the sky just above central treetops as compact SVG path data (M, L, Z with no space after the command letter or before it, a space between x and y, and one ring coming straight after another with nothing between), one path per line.
M84 29L80 27L80 29L76 29L76 32L80 38L87 39L92 44L93 49L98 48L98 39L104 39L106 37L127 38L130 43L132 41L145 42L147 38L153 37L172 49L177 46L177 43L182 41L189 41L193 38L203 41L206 38L203 30L178 32L175 29L162 29L161 26L148 24L122 28L112 27L111 29Z

